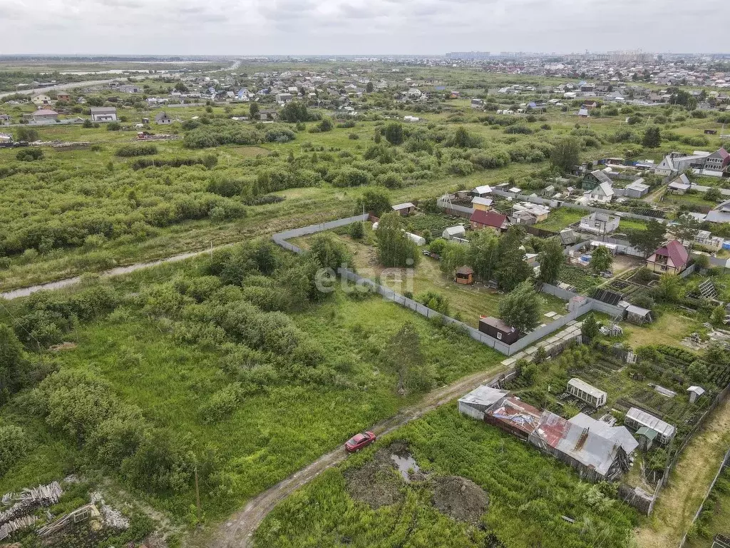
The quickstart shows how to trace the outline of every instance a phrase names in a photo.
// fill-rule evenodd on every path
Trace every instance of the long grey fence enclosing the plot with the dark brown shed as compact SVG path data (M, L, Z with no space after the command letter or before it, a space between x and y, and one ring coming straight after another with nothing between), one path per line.
M352 223L355 223L358 221L367 221L368 218L369 218L369 216L367 214L365 214L365 215L356 215L353 217L341 218L341 219L337 219L337 221L328 221L326 223L312 224L309 227L301 227L298 229L286 230L285 232L279 232L272 236L272 240L274 240L274 243L276 243L278 246L288 249L289 251L293 251L296 254L301 254L301 253L303 253L303 250L299 246L295 246L292 243L289 243L287 241L289 238L307 236L307 235L311 235L311 234L316 234L317 232L323 232L325 230L331 230L331 229L335 229L335 228L339 228L339 227L346 227L348 224L352 224ZM421 316L426 316L426 318L440 317L441 320L443 322L445 322L446 324L457 325L462 330L464 330L464 332L468 333L469 337L471 337L472 339L477 340L480 343L485 344L486 346L489 346L498 352L501 352L505 356L511 356L512 354L516 354L517 352L525 349L527 346L530 346L532 343L536 342L537 340L544 338L553 332L556 332L561 327L564 327L566 324L569 324L570 321L577 319L579 316L582 316L583 314L588 313L591 310L599 309L598 307L600 307L601 305L604 305L604 303L602 303L602 302L599 302L599 301L596 301L593 299L589 299L587 301L586 305L583 305L580 308L577 308L575 311L567 313L565 316L562 316L561 318L558 318L555 321L550 322L550 324L546 325L545 327L540 327L539 329L528 333L527 335L525 335L523 338L520 338L515 343L512 343L511 345L507 345L507 344L503 343L501 340L497 340L496 338L490 337L489 335L486 335L485 333L481 332L480 330L477 330L470 325L464 324L463 321L458 321L457 319L453 319L450 316L444 316L442 313L434 311L431 308L422 305L420 302L409 299L408 297L404 297L404 295L396 293L392 289L388 289L387 287L380 285L380 283L376 283L376 282L372 281L370 278L364 278L364 276L358 275L357 273L354 273L352 270L349 270L347 268L338 268L337 273L340 276L342 276L342 278L345 278L348 281L352 281L358 285L371 287L375 292L377 292L378 294L385 297L385 299L391 300L393 302L397 302L399 305L404 306L406 308L410 308L410 310L419 313ZM564 292L563 289L559 289L555 286L550 286L550 287L553 287L556 290ZM571 293L571 292L564 292L564 293L569 294L570 297L575 296L575 293ZM575 340L579 340L579 339L580 338L576 338Z

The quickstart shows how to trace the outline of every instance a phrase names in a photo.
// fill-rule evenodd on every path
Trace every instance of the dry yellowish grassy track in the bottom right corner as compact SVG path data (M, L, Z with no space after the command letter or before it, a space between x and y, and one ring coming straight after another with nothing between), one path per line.
M730 446L730 400L721 403L687 446L659 495L650 521L636 532L641 548L678 547L692 523L723 454Z

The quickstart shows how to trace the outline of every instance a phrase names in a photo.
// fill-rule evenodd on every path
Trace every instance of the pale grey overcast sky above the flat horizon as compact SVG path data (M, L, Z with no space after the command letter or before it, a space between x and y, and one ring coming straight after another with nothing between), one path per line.
M719 52L730 50L727 7L728 0L0 0L0 53Z

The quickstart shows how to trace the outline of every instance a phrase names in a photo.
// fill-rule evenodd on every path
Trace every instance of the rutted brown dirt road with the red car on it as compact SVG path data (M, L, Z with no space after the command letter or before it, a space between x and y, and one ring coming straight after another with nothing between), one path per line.
M502 370L502 366L492 368L488 371L481 371L480 373L474 373L468 377L461 378L448 386L441 387L439 389L430 392L418 405L411 408L404 409L396 416L391 419L386 419L383 422L375 425L372 430L379 436L388 434L396 430L398 427L407 424L414 419L422 416L428 411L442 406L445 403L449 403L456 397L463 395L465 392L474 389L475 387L483 384L485 381L489 381L494 376L499 374ZM249 546L251 536L258 527L258 524L264 520L267 514L274 509L280 501L291 495L292 492L299 489L299 487L311 482L320 473L325 471L327 468L331 468L334 465L342 463L347 457L347 453L342 446L335 449L333 452L323 455L322 457L315 460L307 467L302 468L300 471L293 473L287 479L274 485L269 490L262 492L257 497L253 498L247 503L247 505L233 514L226 522L218 525L218 528L213 531L212 539L209 539L209 535L202 533L197 539L191 539L188 542L190 547L202 547L207 548L246 548ZM205 538L203 538L205 537Z

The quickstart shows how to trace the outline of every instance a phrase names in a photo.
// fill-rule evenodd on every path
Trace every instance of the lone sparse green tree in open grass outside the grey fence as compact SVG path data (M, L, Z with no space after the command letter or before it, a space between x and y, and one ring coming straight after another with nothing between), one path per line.
M411 321L388 340L383 362L398 375L398 393L407 395L429 389L434 381L433 365L420 350L420 337Z

